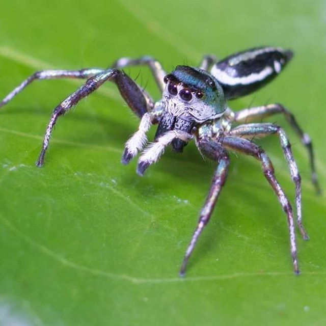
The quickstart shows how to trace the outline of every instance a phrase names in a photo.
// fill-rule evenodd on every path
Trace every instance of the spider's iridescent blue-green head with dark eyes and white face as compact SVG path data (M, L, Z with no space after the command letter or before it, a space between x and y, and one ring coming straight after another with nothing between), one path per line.
M188 66L177 66L165 76L163 93L164 113L160 119L155 139L173 129L191 132L208 120L221 117L226 102L221 86L208 72ZM174 140L172 147L182 152L185 143Z

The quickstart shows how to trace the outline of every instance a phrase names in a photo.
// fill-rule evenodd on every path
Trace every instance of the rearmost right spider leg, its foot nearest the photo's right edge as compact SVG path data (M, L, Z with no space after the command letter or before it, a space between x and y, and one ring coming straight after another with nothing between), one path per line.
M301 129L301 127L296 122L294 115L290 111L288 111L286 107L284 107L282 104L277 103L277 104L269 104L269 105L245 108L244 110L235 113L234 121L247 123L250 121L257 121L261 118L265 118L275 114L283 114L285 116L287 122L290 124L292 129L301 139L303 145L307 148L309 161L310 161L311 180L316 189L316 193L321 194L317 173L316 173L315 157L314 157L314 151L313 151L311 139L309 135Z

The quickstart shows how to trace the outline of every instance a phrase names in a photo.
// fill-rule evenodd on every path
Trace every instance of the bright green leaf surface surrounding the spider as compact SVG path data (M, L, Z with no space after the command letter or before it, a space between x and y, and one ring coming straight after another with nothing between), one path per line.
M167 70L261 45L291 48L277 80L231 103L282 102L312 137L325 189L326 2L3 0L0 97L44 68L106 67L152 55ZM159 93L146 68L126 71ZM171 150L144 178L120 164L138 120L113 85L58 122L44 168L37 159L56 104L80 81L35 83L0 112L0 324L324 325L325 202L305 149L281 116L303 178L311 240L298 235L295 277L284 213L258 162L231 155L228 182L185 279L178 269L214 164L194 144ZM153 130L154 131L154 130ZM151 137L153 135L151 132ZM270 153L291 199L276 138Z

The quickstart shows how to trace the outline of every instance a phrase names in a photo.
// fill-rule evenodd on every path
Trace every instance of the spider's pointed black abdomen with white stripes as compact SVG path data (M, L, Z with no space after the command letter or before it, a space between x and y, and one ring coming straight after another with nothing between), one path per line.
M279 47L253 48L216 63L211 74L221 84L227 99L237 98L270 82L292 57L292 51Z

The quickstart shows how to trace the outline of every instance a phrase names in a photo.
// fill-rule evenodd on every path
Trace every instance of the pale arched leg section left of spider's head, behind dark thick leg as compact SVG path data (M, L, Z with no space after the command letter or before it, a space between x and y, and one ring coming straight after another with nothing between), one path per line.
M162 65L154 58L146 56L137 59L131 58L120 58L117 60L111 68L113 69L122 69L127 66L140 66L147 65L155 78L155 82L161 92L165 89L164 77L167 74L163 69Z

